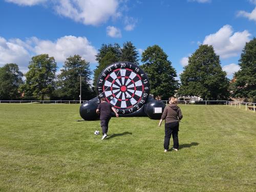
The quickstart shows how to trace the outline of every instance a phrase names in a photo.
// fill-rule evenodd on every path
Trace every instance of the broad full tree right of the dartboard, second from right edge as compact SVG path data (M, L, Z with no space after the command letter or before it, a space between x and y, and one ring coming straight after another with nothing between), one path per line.
M227 99L229 81L222 70L220 57L211 45L200 45L188 58L188 65L180 75L183 96L198 96L205 100Z

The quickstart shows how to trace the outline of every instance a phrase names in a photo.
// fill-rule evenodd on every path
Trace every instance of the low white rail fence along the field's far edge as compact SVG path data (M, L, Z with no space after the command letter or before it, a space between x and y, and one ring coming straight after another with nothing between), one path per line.
M86 101L81 101L81 103ZM162 101L168 104L168 101ZM0 101L0 104L79 104L80 101ZM256 111L255 105L256 103L246 103L246 102L234 102L234 101L178 101L178 104L182 105L228 105L235 108L244 108L245 110L253 110Z

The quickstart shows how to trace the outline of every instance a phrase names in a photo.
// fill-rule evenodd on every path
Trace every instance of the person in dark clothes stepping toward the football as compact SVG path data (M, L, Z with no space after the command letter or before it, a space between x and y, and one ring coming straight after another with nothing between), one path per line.
M98 108L96 110L97 114L100 114L100 126L102 129L102 139L106 138L108 136L106 133L108 133L109 130L109 122L111 119L111 109L115 112L116 117L118 117L118 113L116 112L115 108L112 107L112 105L108 102L106 102L105 98L100 99L100 104L98 105Z

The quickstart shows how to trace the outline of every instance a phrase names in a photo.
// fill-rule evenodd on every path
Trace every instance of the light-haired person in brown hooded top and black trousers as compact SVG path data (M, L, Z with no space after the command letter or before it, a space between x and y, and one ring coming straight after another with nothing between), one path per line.
M164 136L164 152L167 152L170 144L170 137L173 135L174 147L173 150L178 151L179 148L179 121L183 115L180 108L177 106L175 97L169 98L169 105L166 105L161 116L158 126L160 127L163 119L165 119L165 136Z

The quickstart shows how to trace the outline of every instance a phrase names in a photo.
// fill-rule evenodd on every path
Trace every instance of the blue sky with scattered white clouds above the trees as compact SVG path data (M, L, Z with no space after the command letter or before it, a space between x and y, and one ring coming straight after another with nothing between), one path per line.
M200 44L214 46L232 78L256 36L256 0L0 0L0 67L28 71L31 57L58 65L79 54L98 65L101 45L131 41L141 53L159 45L179 76Z

